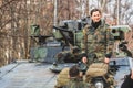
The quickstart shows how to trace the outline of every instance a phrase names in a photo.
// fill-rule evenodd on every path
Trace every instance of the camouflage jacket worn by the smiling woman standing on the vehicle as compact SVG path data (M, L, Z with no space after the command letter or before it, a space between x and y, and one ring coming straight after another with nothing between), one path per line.
M96 29L91 25L91 22L90 20L83 29L81 42L82 52L88 55L89 63L94 62L95 58L103 61L105 55L110 55L113 48L113 37L104 20L101 20L101 24Z

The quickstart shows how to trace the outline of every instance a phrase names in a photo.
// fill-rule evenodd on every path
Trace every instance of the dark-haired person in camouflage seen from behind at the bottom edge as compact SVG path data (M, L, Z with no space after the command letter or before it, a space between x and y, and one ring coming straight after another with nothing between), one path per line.
M70 76L70 81L64 88L90 88L89 84L83 81L80 75L80 70L75 65L70 68L69 76Z

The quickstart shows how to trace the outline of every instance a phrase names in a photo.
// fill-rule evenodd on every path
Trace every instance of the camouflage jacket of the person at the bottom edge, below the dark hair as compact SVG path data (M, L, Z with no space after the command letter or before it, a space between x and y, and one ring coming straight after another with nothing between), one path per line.
M64 88L90 88L90 86L80 78L71 78Z

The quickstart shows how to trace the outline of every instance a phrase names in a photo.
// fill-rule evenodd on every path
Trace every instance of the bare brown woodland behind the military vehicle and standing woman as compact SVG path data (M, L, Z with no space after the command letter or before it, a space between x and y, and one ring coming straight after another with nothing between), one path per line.
M93 8L102 10L110 25L130 25L125 40L133 50L132 0L0 0L0 66L29 59L32 24L50 35L60 21L82 19Z

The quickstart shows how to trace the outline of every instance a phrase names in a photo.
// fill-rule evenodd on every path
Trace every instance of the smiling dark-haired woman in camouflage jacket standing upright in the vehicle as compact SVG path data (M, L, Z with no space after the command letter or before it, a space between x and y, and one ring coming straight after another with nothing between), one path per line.
M109 25L101 19L102 13L99 9L91 10L90 15L84 19L88 24L83 29L81 48L86 56L83 56L82 62L88 64L93 62L109 63L113 48L113 37Z

